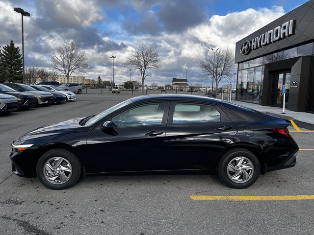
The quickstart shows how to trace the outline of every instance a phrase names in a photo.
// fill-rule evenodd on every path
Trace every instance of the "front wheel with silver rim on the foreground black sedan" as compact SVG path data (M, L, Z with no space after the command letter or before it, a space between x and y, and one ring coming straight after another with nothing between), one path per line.
M39 159L36 173L40 182L51 189L66 189L74 186L81 176L82 167L71 152L56 148Z

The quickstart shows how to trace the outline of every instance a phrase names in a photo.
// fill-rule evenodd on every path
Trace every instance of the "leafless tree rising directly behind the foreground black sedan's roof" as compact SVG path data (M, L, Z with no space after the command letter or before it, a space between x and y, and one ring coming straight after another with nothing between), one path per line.
M161 68L159 52L154 45L147 47L145 44L141 44L134 53L128 55L124 66L141 72L142 94L144 94L144 80L147 76L151 76L151 74L147 74L147 71L157 74Z

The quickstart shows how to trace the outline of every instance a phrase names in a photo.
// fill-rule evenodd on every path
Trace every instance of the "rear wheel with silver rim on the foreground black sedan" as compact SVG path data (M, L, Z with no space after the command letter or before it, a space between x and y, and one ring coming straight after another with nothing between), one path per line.
M218 175L231 188L247 188L260 176L261 166L257 157L246 149L226 152L219 161Z

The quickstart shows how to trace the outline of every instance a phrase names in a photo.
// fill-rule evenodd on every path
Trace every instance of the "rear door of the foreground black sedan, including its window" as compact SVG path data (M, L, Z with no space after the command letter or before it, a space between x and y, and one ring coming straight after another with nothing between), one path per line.
M237 132L218 106L207 103L172 102L168 122L164 149L174 170L210 167Z

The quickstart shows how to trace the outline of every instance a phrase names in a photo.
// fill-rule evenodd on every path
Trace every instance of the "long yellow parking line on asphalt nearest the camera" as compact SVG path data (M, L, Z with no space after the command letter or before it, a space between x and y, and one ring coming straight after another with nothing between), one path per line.
M314 195L282 195L282 196L190 196L192 200L206 201L283 201L314 200Z

